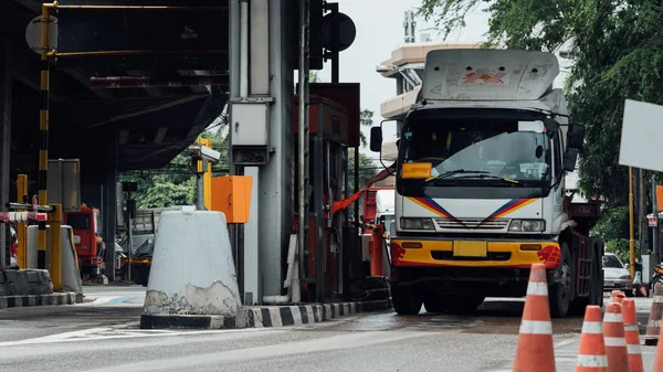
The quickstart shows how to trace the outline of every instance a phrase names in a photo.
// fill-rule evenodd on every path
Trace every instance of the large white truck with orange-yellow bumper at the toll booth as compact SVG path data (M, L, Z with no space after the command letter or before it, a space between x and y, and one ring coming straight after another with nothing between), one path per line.
M571 202L585 128L570 120L549 53L438 50L401 126L391 228L399 315L467 313L485 297L523 297L530 265L548 270L554 317L602 305L596 203ZM371 128L380 151L382 131Z

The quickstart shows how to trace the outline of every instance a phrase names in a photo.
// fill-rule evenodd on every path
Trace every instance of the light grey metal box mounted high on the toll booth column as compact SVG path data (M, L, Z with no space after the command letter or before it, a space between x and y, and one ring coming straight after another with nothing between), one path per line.
M265 102L235 102L230 104L231 145L269 147L270 106Z

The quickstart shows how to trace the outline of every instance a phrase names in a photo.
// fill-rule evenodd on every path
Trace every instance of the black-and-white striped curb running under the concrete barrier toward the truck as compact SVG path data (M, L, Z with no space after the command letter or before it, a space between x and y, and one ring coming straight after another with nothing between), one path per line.
M141 329L242 329L317 323L337 317L391 309L391 299L301 306L243 308L236 317L198 315L140 316Z

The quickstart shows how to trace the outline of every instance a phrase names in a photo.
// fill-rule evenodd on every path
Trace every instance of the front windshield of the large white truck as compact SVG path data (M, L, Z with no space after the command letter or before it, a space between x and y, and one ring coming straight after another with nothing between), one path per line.
M552 159L544 128L538 120L503 118L412 120L401 137L401 168L431 163L430 177L439 177L431 183L494 183L497 178L540 183L550 180Z

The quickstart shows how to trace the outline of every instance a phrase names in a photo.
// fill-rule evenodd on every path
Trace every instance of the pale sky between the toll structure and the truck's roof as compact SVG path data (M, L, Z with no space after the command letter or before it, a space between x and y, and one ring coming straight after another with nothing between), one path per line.
M380 62L391 56L391 51L404 44L403 20L407 10L417 11L421 0L336 0L339 11L346 13L355 21L357 36L354 44L340 53L339 81L341 83L361 84L361 107L375 113L375 125L383 119L380 116L380 104L396 96L396 82L393 78L382 77L376 72ZM379 18L379 20L378 20ZM466 19L466 26L460 32L450 35L449 42L480 42L486 40L488 17L477 10ZM432 41L442 41L442 34L431 29L432 22L417 19L417 42L421 41L422 33L430 34ZM329 63L318 72L323 82L332 81ZM369 129L362 128L368 138ZM396 138L396 127L392 123L383 127L385 141ZM362 148L361 152L371 158L378 155Z

